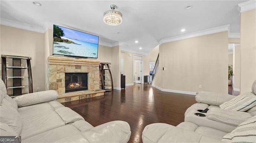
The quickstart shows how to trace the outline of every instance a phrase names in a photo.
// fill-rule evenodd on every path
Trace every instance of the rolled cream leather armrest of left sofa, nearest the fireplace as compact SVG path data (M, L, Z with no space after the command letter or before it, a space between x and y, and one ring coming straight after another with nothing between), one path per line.
M30 94L24 94L21 96L17 96L14 101L17 102L18 107L29 106L33 104L39 104L43 102L52 101L58 98L58 92L55 90L47 90L41 92L34 92Z

